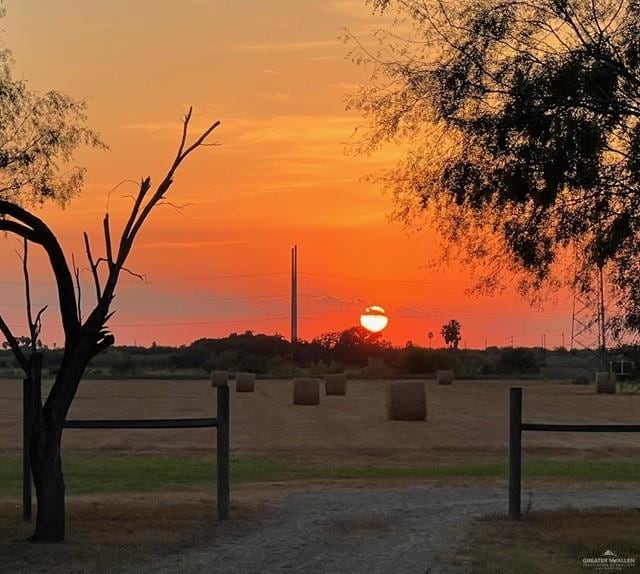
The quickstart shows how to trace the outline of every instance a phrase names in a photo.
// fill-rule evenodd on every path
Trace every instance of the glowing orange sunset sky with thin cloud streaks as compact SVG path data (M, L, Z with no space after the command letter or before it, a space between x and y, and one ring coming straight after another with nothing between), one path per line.
M434 232L409 234L390 223L393 205L363 181L393 165L388 146L371 157L345 153L363 121L344 96L367 72L346 56L348 27L363 42L385 20L364 0L5 0L3 38L15 73L34 90L87 98L90 124L109 151L82 150L82 195L39 215L68 253L83 256L82 230L97 249L109 191L123 180L157 181L175 153L181 116L194 127L222 121L220 147L183 166L172 201L149 221L129 267L148 277L122 281L111 328L117 344L188 344L247 329L289 336L289 258L299 246L299 335L357 324L370 304L390 316L386 337L427 344L451 318L463 346L570 342L571 301L542 311L514 291L469 296L470 274L434 271ZM113 191L121 221L134 190ZM0 241L0 310L25 331L20 261L14 238ZM35 250L34 250L35 251ZM91 297L88 274L84 298ZM52 305L43 340L60 344L51 276L33 258L37 303ZM90 302L90 301L89 301Z

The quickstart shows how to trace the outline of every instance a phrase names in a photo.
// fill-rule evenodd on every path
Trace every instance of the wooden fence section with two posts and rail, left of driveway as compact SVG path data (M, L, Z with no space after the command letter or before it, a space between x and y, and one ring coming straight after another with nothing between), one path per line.
M28 409L29 381L23 381L23 467L22 467L22 517L31 520L31 467L29 465L29 443L31 417ZM65 429L193 429L217 428L216 462L217 462L217 505L218 518L229 518L229 387L217 385L218 406L216 418L194 419L112 419L112 420L68 420Z

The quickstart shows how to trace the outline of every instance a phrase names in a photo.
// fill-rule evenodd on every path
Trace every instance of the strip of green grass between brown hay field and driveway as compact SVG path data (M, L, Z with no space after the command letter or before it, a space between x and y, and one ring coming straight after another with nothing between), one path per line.
M68 494L179 492L199 490L215 479L212 456L80 456L64 458ZM22 465L17 456L0 457L0 496L20 495ZM429 466L319 466L283 457L244 456L231 459L232 484L291 480L447 478L505 479L506 459ZM553 459L528 457L524 479L578 482L638 482L638 459ZM526 482L525 482L526 484Z

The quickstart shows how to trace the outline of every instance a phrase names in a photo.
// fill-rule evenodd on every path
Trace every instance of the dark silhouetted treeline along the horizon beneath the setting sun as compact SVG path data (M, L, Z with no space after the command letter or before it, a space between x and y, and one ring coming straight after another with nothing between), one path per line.
M640 366L636 347L616 351ZM45 375L55 374L61 349L44 353ZM489 347L486 350L429 349L407 343L394 347L380 334L361 327L324 333L294 346L281 335L247 331L190 345L114 347L98 355L87 377L192 378L212 370L250 371L262 376L289 377L296 372L322 375L347 372L354 376L428 375L451 369L459 377L537 376L571 378L578 371L599 370L594 353L541 348ZM0 351L0 377L20 377L9 351Z

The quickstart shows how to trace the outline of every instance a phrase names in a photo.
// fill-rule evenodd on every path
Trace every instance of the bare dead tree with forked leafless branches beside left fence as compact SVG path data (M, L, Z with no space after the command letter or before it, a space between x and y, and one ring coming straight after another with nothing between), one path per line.
M182 162L206 142L220 125L211 124L193 143L188 143L192 109L184 117L180 144L166 175L155 189L151 178L139 183L129 217L117 242L112 239L109 213L103 219L104 256L96 258L85 232L84 246L95 288L96 304L82 318L80 306L79 270L73 260L69 267L62 247L51 229L33 213L10 201L0 200L0 232L23 240L22 256L25 279L27 319L30 332L30 352L20 345L6 321L0 316L0 332L6 338L16 360L28 380L27 400L31 410L30 460L38 499L36 526L31 540L35 542L63 541L65 538L65 485L62 473L60 442L64 421L76 395L78 385L89 361L111 345L115 339L108 328L113 315L111 304L121 273L129 272L126 262L135 240L154 208L165 202L166 195ZM60 369L49 395L42 398L42 351L37 341L45 308L33 315L28 270L29 244L39 245L48 256L53 271L64 331L64 353ZM104 272L101 273L101 269ZM75 281L74 281L75 280Z

